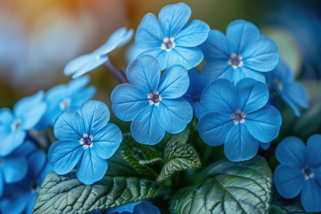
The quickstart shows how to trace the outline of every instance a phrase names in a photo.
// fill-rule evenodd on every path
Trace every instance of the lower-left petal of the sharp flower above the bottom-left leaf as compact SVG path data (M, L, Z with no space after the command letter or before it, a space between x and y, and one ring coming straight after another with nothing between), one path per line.
M75 167L83 151L79 141L56 141L49 147L48 161L57 174L66 174Z

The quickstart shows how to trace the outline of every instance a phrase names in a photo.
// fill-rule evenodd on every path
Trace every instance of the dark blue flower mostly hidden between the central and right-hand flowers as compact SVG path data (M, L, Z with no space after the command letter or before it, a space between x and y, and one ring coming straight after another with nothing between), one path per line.
M193 81L190 82L190 85L182 98L186 99L191 104L196 118L199 119L199 117L204 113L204 107L200 98L206 84L202 75L193 68L188 70L188 76L189 79Z

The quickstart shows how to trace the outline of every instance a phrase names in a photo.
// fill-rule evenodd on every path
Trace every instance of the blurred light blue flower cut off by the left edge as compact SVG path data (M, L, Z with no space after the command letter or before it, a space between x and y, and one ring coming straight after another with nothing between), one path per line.
M47 105L44 102L45 93L38 93L19 100L12 111L9 108L0 109L0 156L11 153L20 146L27 131L41 119Z

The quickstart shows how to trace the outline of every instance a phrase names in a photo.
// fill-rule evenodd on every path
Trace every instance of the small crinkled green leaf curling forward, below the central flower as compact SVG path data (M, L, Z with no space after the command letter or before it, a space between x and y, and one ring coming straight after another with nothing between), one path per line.
M200 160L194 147L177 141L170 141L167 144L164 160L166 164L162 168L157 181L166 180L175 171L200 167Z

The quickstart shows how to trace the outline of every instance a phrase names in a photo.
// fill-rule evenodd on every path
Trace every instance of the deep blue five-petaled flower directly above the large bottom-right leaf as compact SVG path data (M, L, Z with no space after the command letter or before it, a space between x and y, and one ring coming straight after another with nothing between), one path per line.
M225 143L224 153L231 161L254 157L259 142L268 143L278 135L282 118L279 111L266 105L269 90L251 78L236 86L226 79L214 80L202 94L205 113L197 130L210 146Z

